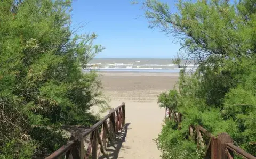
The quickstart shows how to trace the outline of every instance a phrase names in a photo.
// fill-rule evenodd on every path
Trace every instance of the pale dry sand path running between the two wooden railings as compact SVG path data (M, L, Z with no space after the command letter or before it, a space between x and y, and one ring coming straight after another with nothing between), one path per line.
M113 107L121 104L112 101ZM155 141L161 132L164 110L157 103L126 101L126 127L117 135L116 142L109 145L109 158L161 158ZM106 158L106 157L102 157Z

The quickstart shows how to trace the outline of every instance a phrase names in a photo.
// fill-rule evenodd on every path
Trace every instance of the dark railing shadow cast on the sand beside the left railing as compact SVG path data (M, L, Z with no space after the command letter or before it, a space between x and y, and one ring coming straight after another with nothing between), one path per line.
M125 151L126 149L130 149L130 147L123 146L122 144L125 142L125 137L127 135L129 125L131 123L126 123L125 126L116 134L116 139L113 142L108 142L106 152L108 155L102 155L99 159L109 158L109 159L117 159L120 150ZM123 157L119 157L123 158Z

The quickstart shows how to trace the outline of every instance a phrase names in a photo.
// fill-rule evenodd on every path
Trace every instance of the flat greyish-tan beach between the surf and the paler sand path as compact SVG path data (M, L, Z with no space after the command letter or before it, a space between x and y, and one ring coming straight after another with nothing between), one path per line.
M179 74L100 73L103 92L114 101L157 102L162 91L173 89Z

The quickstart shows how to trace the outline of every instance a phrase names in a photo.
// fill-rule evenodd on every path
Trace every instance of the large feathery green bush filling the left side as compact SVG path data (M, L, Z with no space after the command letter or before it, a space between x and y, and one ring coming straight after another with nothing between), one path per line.
M0 2L1 158L45 157L67 141L60 125L90 126L90 107L107 106L97 74L81 69L104 48L70 30L70 6Z

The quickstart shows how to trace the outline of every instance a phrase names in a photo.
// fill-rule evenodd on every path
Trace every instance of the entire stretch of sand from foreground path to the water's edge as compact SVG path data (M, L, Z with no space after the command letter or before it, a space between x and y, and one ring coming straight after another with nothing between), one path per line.
M173 89L179 75L99 72L99 76L111 106L126 104L126 128L109 158L161 158L153 139L161 132L165 111L159 108L157 95Z

